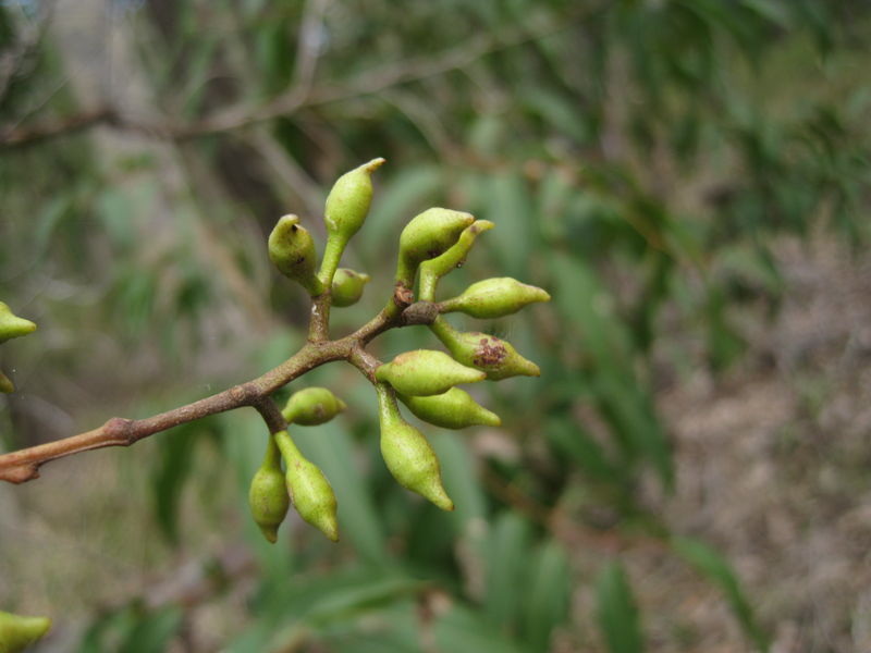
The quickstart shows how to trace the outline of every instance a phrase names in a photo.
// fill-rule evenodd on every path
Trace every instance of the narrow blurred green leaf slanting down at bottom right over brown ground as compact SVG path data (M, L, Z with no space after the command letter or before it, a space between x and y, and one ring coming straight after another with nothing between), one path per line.
M741 630L757 650L768 651L769 637L757 623L750 602L745 596L738 576L728 560L708 544L690 538L674 538L671 545L677 555L723 592Z

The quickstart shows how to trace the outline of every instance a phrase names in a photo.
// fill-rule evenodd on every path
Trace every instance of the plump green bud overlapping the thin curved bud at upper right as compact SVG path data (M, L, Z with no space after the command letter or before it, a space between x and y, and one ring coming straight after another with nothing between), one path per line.
M417 267L456 243L463 230L473 222L475 218L469 213L440 208L427 209L415 217L400 235L396 281L410 286Z

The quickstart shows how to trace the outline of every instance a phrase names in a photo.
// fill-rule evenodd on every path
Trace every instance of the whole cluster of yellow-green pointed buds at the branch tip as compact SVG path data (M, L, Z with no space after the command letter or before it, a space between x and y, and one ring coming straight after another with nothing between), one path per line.
M327 198L327 246L318 267L315 243L296 215L281 218L269 237L269 256L289 279L312 297L317 310L355 304L369 276L339 263L345 246L363 226L372 199L371 173L383 159L375 159L342 175ZM446 429L501 424L498 415L480 406L461 384L500 381L510 377L538 377L538 366L520 356L507 342L479 332L461 332L441 313L463 312L479 319L512 315L524 306L547 301L541 288L514 279L489 279L441 303L436 291L442 276L463 264L476 238L492 229L487 220L443 208L427 209L400 235L394 292L382 315L400 316L415 299L428 306L428 325L449 353L418 349L389 362L376 361L365 370L375 385L381 429L381 454L390 472L404 488L438 507L452 510L436 452L426 436L402 416L402 402L417 418ZM403 300L397 301L396 297ZM365 343L364 343L365 344ZM367 354L367 356L369 356ZM369 356L370 360L373 360ZM358 366L359 367L359 366ZM324 387L309 387L289 399L282 415L291 426L317 426L345 409ZM282 470L283 461L283 470ZM263 463L249 493L252 513L267 540L274 542L290 504L331 540L338 539L336 501L323 472L306 459L289 430L272 433Z

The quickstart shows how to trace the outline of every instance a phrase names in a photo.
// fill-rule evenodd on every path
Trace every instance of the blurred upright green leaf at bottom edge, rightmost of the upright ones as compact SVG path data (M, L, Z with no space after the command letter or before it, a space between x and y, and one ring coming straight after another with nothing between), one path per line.
M638 606L626 572L618 562L609 563L596 579L597 619L611 653L640 653L643 638Z

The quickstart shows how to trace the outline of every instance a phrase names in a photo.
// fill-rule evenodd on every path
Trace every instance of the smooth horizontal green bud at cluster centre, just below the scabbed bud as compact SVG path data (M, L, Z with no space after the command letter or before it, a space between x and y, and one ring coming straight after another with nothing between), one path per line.
M402 394L429 396L447 392L457 383L483 381L487 374L458 364L443 352L417 349L380 366L375 378Z

